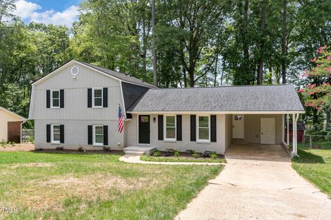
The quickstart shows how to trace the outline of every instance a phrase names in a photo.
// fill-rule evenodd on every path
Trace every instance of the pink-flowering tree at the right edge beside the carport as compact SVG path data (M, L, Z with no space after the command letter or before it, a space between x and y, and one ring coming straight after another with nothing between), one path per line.
M325 129L330 129L331 109L331 51L330 47L319 47L319 56L311 60L312 69L305 71L303 77L310 80L310 84L299 92L305 98L305 107L324 111L326 115Z

